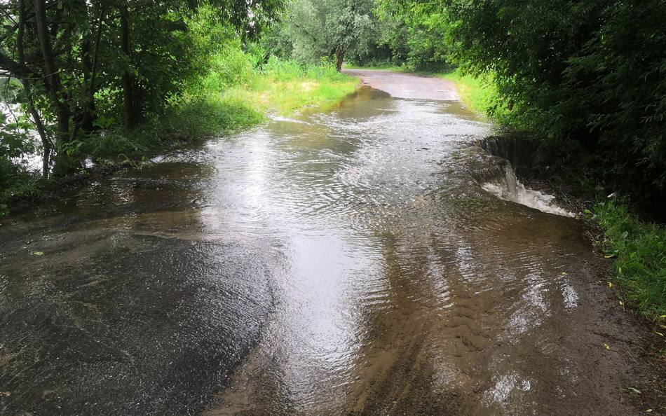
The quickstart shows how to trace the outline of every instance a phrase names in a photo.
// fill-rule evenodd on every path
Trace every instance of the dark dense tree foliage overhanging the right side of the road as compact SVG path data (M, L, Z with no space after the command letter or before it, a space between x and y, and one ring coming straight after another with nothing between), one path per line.
M444 1L458 62L495 75L508 122L579 144L607 185L666 187L663 1ZM577 152L577 150L576 150Z

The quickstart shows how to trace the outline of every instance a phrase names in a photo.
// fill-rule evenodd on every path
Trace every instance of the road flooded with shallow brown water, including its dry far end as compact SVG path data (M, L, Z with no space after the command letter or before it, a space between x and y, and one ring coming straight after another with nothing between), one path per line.
M393 96L5 221L2 414L637 414L650 333L583 224L484 189L491 126L451 85L355 75Z

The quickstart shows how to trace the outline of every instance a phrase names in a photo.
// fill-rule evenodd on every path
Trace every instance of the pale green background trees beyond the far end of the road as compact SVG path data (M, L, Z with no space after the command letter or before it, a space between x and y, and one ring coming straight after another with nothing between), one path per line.
M449 21L439 7L376 0L292 0L261 39L270 54L301 62L332 57L364 66L450 67Z

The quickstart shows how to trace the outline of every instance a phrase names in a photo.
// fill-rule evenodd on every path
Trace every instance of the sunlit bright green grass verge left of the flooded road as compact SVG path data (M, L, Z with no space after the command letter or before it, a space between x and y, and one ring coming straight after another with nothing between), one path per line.
M340 74L327 62L299 64L271 58L261 68L254 68L243 54L222 55L214 62L208 76L170 100L165 113L147 123L130 141L142 144L146 137L192 141L256 125L269 113L288 116L329 109L360 85L356 78ZM108 148L117 153L117 145Z

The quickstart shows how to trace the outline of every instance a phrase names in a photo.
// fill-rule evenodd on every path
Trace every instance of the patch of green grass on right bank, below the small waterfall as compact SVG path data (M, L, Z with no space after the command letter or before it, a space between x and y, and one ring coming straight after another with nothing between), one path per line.
M594 205L620 296L653 321L666 319L666 228L639 221L616 200Z

